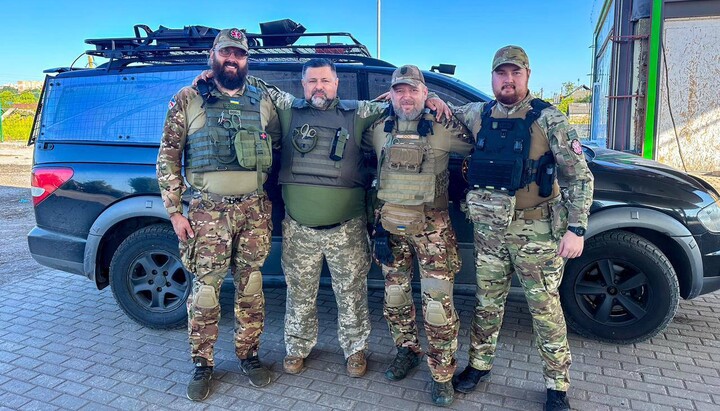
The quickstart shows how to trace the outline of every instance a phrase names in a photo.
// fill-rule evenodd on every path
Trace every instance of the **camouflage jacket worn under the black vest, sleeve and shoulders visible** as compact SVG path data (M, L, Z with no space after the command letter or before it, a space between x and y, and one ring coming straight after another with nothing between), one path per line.
M493 108L493 117L510 116L521 110L530 109L530 101L534 97L528 93L519 103L506 106L500 102ZM482 111L486 103L468 103L453 107L455 116L477 135L482 122ZM588 168L585 156L578 153L580 142L575 129L567 117L555 107L544 109L536 124L548 139L550 150L555 156L558 166L558 179L567 184L566 206L568 223L573 226L587 227L588 214L592 205L593 175Z

